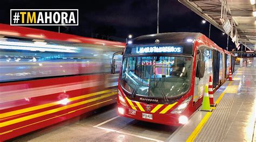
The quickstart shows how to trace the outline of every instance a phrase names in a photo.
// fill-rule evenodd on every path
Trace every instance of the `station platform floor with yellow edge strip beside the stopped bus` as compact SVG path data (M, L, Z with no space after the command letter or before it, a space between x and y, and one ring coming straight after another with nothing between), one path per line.
M256 141L256 68L238 68L232 77L215 91L213 112L195 112L166 141Z

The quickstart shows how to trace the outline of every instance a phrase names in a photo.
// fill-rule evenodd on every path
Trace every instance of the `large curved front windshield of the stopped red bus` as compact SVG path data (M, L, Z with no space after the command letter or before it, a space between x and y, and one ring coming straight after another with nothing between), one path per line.
M131 96L172 98L190 88L191 56L132 56L123 61L120 84Z

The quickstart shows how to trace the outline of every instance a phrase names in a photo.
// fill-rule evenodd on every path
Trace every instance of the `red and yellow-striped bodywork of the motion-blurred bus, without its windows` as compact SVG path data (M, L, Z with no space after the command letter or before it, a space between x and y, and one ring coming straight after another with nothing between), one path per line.
M122 42L0 24L0 35L124 48ZM50 63L49 63L50 64ZM89 64L87 64L89 65ZM80 66L80 65L77 65ZM90 65L93 69L95 65ZM79 69L85 68L84 66ZM65 68L69 70L72 68ZM116 102L117 77L86 74L0 83L0 141Z

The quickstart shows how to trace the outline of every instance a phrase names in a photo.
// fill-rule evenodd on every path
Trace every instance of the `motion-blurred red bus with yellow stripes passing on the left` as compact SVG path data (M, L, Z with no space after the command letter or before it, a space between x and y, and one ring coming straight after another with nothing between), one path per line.
M0 24L0 141L115 103L124 47Z

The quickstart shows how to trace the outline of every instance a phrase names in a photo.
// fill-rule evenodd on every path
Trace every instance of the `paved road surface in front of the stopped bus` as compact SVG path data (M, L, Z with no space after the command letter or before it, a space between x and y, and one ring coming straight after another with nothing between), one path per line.
M119 117L112 104L11 141L164 141L177 128Z

